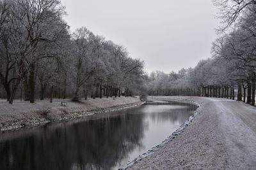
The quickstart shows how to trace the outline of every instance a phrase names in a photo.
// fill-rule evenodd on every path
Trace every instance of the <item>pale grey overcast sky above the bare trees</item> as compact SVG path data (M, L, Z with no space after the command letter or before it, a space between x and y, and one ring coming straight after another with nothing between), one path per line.
M85 26L145 60L148 73L211 57L218 10L211 0L61 0L71 30Z

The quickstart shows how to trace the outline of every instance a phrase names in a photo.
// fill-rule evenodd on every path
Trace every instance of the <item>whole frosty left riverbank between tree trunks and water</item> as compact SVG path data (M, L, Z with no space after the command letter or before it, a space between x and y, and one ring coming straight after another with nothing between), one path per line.
M35 127L49 122L74 120L81 117L120 110L143 104L138 97L112 97L88 99L74 103L68 99L36 101L28 103L15 101L13 105L0 100L0 131L10 131L22 127Z

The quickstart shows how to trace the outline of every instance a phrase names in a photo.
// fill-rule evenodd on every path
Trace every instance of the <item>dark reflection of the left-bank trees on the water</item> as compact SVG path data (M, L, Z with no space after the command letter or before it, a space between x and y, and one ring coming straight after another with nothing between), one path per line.
M1 169L111 169L141 146L143 115L38 129L0 144Z

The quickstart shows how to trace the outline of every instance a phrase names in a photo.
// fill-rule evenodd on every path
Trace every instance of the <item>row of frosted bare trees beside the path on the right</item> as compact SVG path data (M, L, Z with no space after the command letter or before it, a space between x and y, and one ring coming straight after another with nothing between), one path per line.
M256 1L213 2L222 25L211 58L178 73L151 73L148 94L237 98L255 106Z

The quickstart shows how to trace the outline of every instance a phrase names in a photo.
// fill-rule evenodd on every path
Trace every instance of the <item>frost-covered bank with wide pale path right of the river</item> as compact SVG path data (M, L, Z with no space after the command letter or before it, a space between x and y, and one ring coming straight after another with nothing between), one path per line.
M128 169L256 169L256 108L229 99L153 97L200 103L184 132Z

